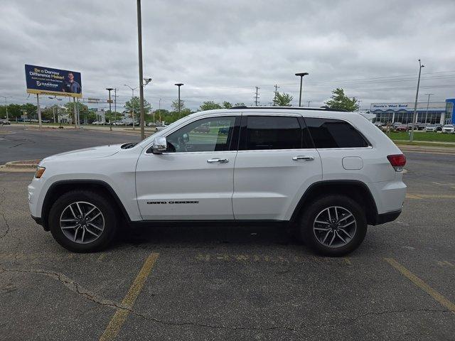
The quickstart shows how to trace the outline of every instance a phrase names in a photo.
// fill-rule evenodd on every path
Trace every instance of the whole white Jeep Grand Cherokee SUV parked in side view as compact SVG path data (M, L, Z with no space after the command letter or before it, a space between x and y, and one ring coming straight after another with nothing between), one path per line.
M198 112L139 144L43 159L31 215L66 249L107 247L120 224L279 224L320 254L357 248L402 210L405 156L360 114L235 107Z

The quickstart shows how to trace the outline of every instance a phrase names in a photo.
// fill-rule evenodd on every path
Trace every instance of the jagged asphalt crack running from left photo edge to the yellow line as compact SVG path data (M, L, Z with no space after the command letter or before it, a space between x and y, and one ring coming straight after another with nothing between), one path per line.
M73 291L74 293L77 293L77 295L81 296L82 298L85 298L88 301L92 301L94 303L97 303L99 305L104 305L109 308L114 308L114 309L121 309L121 310L128 310L129 312L132 312L131 309L120 305L117 302L107 300L106 298L99 298L97 297L94 293L88 291L87 289L83 288L80 286L79 283L76 281L73 281L71 278L66 276L65 274L62 274L57 271L45 271L41 269L30 269L30 270L21 270L21 269L5 269L3 266L0 266L0 271L1 272L13 272L13 273L18 273L18 274L39 274L43 276L48 276L50 278L53 278L60 283L63 284L66 288L68 288L70 291Z

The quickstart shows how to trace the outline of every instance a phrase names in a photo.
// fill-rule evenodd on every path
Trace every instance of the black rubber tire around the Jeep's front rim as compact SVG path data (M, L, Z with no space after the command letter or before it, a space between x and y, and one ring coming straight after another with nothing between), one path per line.
M70 240L60 228L60 216L62 215L63 210L65 210L65 207L68 207L68 205L73 202L89 202L102 212L105 222L104 229L102 229L100 236L94 241L87 244L73 242L73 240ZM73 190L65 193L55 200L53 206L50 208L48 216L50 233L52 233L58 244L69 251L78 253L95 252L108 247L117 234L117 221L117 214L109 198L92 190Z

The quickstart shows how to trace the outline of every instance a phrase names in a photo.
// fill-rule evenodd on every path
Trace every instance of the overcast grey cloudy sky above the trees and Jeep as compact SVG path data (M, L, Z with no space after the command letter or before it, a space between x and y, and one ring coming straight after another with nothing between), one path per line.
M84 97L120 107L138 84L136 1L0 0L0 95L33 102L24 64L82 72ZM142 0L145 97L158 109L182 99L269 104L274 85L320 106L343 87L371 102L412 102L422 59L419 101L455 97L455 1L151 1ZM1 99L3 100L3 99ZM43 97L43 104L51 100ZM90 104L96 107L96 104ZM106 104L100 104L106 107Z

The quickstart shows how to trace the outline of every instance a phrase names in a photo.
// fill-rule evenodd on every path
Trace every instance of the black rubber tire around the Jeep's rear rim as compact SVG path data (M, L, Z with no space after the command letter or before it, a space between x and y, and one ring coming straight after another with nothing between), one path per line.
M335 206L342 207L343 209L348 210L353 215L353 218L355 219L355 224L353 226L355 227L355 232L353 232L353 235L351 236L352 239L348 240L348 238L346 238L346 235L341 233L340 229L337 229L338 233L340 235L343 235L347 243L339 247L336 247L335 244L333 244L333 247L328 247L326 244L322 244L322 242L320 241L320 239L323 239L323 237L321 237L321 234L323 234L324 237L326 237L325 236L326 231L323 232L315 231L314 223L316 217L318 217L318 215L321 212L323 212L323 210L326 210L328 207ZM321 217L321 215L319 217ZM343 220L343 218L341 218L341 220ZM348 220L348 222L349 221L352 221L352 219ZM339 224L344 224L344 222L340 222ZM324 226L326 225L323 224L316 225L316 227ZM351 226L350 228L353 229L353 227ZM326 228L332 229L332 226ZM308 208L306 208L304 214L302 215L300 221L300 232L301 237L305 240L306 244L316 253L321 254L323 256L344 256L357 249L358 246L363 242L363 239L365 238L365 234L367 232L367 221L365 218L365 212L363 212L363 208L357 202L350 199L350 197L346 197L344 195L328 195L326 197L319 197L311 205L309 205ZM330 237L335 235L335 232L331 233L333 234L328 234ZM316 237L316 234L319 235L320 239ZM336 240L341 244L343 243L341 239L339 239L338 235L336 236Z

